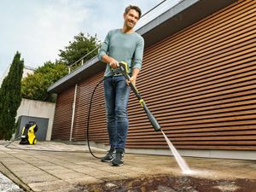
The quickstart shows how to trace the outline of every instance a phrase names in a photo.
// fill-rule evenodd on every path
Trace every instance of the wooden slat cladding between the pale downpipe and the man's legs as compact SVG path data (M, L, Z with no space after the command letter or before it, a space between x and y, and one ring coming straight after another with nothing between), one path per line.
M90 106L90 97L96 84L103 78L103 73L98 73L90 79L79 83L76 115L73 127L73 140L81 141L86 138L87 118ZM101 134L97 137L95 134ZM99 84L92 100L90 111L90 140L94 142L107 142L108 132L106 129L105 102L103 96L103 86Z

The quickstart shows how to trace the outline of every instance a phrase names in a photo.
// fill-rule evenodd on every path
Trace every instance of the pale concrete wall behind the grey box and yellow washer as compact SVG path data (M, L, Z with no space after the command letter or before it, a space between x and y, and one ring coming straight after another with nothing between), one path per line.
M52 102L38 102L34 100L22 99L20 108L17 111L17 116L20 115L38 117L38 118L49 118L49 124L46 134L46 141L50 140L53 119L55 115L55 103Z

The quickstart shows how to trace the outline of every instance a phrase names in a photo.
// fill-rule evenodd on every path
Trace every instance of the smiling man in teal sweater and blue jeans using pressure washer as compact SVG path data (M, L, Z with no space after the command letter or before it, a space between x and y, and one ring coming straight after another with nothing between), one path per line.
M99 60L107 63L104 73L104 96L110 150L102 161L111 161L112 166L122 166L124 163L128 133L127 105L131 90L126 84L125 77L119 73L118 67L120 61L128 63L130 81L136 84L137 75L142 67L144 40L133 27L141 15L141 9L137 6L128 6L123 15L123 27L108 32L98 54Z

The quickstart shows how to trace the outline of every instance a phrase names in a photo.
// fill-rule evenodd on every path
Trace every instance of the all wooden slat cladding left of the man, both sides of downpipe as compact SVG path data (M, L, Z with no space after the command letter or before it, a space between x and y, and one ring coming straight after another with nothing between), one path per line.
M87 139L86 131L90 97L96 84L102 78L103 72L98 73L90 79L86 79L86 81L78 84L72 132L73 141L84 141ZM72 122L73 98L74 87L70 90L63 91L58 95L52 134L53 139L69 140ZM100 137L98 137L99 135ZM102 84L99 84L92 100L90 112L90 140L108 144Z

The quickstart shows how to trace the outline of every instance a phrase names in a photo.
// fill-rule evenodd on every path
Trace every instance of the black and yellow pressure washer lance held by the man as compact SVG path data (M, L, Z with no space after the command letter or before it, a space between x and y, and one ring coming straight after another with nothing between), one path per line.
M122 73L125 76L125 79L129 81L129 85L131 87L131 90L135 93L137 96L137 99L141 103L141 106L143 107L144 111L148 115L148 119L151 123L151 125L154 127L154 131L160 131L160 125L157 122L157 120L154 118L154 115L149 111L146 102L144 102L143 97L140 95L139 91L137 90L136 86L130 82L131 77L129 76L129 67L128 64L125 61L119 62L119 72Z

